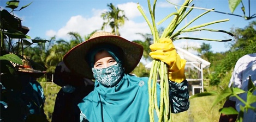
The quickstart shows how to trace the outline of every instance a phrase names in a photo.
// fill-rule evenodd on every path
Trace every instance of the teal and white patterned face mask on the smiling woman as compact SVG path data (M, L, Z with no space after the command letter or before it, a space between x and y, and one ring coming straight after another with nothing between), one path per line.
M113 87L118 84L124 73L121 63L110 66L108 68L96 69L92 68L93 76L105 87Z

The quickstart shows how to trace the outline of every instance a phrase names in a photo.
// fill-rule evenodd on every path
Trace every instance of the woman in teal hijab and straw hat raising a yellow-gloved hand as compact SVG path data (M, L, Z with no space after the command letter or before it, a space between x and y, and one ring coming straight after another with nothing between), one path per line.
M189 107L188 82L184 77L186 60L180 59L171 40L163 38L160 42L150 46L153 51L150 55L168 65L171 112L186 111ZM139 44L97 32L64 56L70 70L95 79L94 90L78 105L81 121L150 121L148 78L129 74L138 65L142 52ZM159 84L157 92L160 97Z

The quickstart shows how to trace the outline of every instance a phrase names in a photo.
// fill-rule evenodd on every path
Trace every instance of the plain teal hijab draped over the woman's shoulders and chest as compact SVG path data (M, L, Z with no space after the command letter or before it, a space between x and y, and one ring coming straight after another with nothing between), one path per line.
M96 80L94 90L78 106L90 122L150 121L147 82L148 78L130 74L123 74L114 87L105 87ZM157 91L159 99L159 85Z

